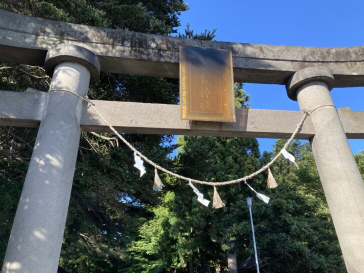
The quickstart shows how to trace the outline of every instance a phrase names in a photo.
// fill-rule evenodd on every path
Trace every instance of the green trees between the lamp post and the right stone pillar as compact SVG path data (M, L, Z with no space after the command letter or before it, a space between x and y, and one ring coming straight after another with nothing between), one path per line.
M274 154L284 142L275 143ZM299 169L278 160L271 170L279 186L269 190L269 204L253 203L260 257L273 272L344 272L310 146L293 141L287 151L295 156ZM264 154L262 161L270 156Z

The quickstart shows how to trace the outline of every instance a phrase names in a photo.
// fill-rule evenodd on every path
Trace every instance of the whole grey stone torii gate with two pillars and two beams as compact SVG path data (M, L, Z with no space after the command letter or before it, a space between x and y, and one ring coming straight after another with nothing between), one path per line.
M332 104L332 87L364 86L364 47L314 48L191 40L0 11L0 60L45 67L49 93L0 91L0 125L38 127L2 272L56 272L81 130L109 131L82 103L99 72L178 78L179 45L232 50L235 81L285 84L299 107ZM58 90L57 90L58 89ZM236 122L180 120L179 105L93 100L120 132L287 138L299 111L237 109ZM145 113L148 113L145 115ZM364 112L322 106L309 139L348 272L364 271L364 183L347 138Z

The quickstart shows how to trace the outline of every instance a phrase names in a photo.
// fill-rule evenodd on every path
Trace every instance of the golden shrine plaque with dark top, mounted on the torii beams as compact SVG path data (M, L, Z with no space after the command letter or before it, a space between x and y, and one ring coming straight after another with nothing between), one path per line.
M235 122L231 50L179 46L180 118Z

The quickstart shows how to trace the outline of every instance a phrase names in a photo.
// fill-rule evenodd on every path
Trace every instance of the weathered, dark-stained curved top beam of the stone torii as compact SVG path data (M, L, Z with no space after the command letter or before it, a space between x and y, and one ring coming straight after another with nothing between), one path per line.
M364 47L302 47L202 41L106 29L35 18L0 10L0 60L44 64L46 51L59 43L86 47L98 55L101 70L179 77L179 45L230 49L234 80L285 84L304 67L328 67L334 87L364 86Z

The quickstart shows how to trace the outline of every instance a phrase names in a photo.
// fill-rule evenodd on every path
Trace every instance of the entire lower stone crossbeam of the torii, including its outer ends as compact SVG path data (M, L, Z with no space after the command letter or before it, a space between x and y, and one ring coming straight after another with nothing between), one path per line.
M0 125L38 127L46 93L28 88L25 92L0 90ZM179 105L92 100L98 111L119 132L288 138L302 118L299 111L236 109L236 122L188 121L179 118ZM348 138L364 138L364 111L338 110ZM109 132L100 116L84 103L84 131ZM309 117L296 138L314 135Z

